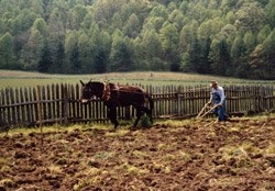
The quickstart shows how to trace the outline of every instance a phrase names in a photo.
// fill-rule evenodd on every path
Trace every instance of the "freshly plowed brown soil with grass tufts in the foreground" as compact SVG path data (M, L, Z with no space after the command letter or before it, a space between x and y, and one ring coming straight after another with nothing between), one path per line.
M0 191L275 190L275 117L0 137Z

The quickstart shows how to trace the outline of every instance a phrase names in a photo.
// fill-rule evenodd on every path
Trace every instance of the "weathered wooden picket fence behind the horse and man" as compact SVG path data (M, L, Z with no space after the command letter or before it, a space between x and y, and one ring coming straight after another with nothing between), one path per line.
M210 88L196 87L143 87L154 99L153 116L191 117L209 101ZM275 110L273 87L230 86L223 87L227 94L227 113L245 114ZM38 124L38 100L41 93L44 124L108 121L107 108L99 99L89 104L80 103L79 85L52 85L37 88L6 88L0 91L0 131L9 126L35 126ZM132 119L135 111L118 108L120 119Z

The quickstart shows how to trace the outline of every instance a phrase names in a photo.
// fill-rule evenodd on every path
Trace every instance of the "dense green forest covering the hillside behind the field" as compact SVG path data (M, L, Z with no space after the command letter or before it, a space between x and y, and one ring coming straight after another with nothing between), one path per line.
M275 79L275 0L0 0L0 69Z

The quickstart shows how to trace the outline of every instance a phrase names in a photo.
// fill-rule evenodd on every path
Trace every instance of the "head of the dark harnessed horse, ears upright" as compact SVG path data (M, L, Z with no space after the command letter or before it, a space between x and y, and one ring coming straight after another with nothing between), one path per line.
M103 94L103 83L92 82L87 83L80 80L81 87L81 103L88 103L92 97L101 98Z

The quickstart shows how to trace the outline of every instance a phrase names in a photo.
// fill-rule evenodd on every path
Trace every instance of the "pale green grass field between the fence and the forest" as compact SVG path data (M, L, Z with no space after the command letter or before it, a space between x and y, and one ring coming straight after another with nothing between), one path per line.
M14 70L0 70L0 89L7 87L34 87L36 85L45 86L52 83L78 83L79 80L103 81L119 83L139 83L153 86L167 85L208 85L210 80L218 80L221 86L230 85L272 85L275 80L245 80L238 78L218 77L210 75L182 74L182 72L155 72L155 71L133 71L133 72L110 72L102 75L47 75L40 72L26 72Z

